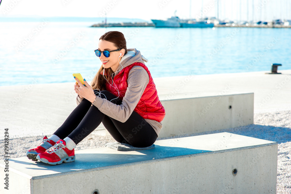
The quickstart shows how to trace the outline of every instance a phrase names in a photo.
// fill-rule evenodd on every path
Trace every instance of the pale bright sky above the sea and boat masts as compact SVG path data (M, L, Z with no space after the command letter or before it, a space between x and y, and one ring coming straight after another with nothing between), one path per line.
M199 17L203 2L203 12L207 17L217 15L218 0L192 0L191 17ZM252 19L252 1L254 1L254 19L291 19L290 0L219 0L220 18L233 20ZM247 15L249 5L249 15ZM2 0L0 17L13 15L39 16L77 16L77 17L107 17L166 19L174 15L189 18L190 0ZM288 13L288 14L287 14Z

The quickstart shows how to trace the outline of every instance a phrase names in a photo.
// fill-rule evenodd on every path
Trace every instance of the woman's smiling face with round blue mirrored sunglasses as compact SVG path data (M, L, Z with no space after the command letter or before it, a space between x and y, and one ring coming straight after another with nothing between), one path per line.
M99 40L98 43L98 50L100 51L113 51L113 50L117 50L119 48L117 48L114 43L106 41L106 40ZM121 60L121 57L124 55L124 50L125 49L121 49L120 51L113 51L110 52L110 56L109 57L105 57L103 53L101 53L101 56L99 57L102 65L104 68L110 68L112 69L113 72L116 72L117 67L119 65L119 61ZM119 57L121 53L121 56Z

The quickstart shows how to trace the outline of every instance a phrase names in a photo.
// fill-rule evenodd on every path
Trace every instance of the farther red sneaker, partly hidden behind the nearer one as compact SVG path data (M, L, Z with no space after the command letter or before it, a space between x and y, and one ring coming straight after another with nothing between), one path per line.
M50 140L47 138L47 136L45 136L42 140L42 142L40 144L38 144L38 147L34 148L34 149L29 149L26 152L26 156L31 159L32 161L37 161L36 156L40 153L45 152L45 150L49 149L50 147L52 147L53 145L55 145L56 142L54 142L53 140Z

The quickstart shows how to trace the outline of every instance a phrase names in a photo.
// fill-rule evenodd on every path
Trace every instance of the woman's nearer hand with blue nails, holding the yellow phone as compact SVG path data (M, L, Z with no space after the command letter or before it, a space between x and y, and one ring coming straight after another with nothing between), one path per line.
M84 79L85 86L81 83L81 81L78 78L75 78L75 80L77 81L77 83L75 83L74 86L75 92L80 97L83 97L90 101L91 103L93 103L96 98L96 95L94 94L94 90L92 89L92 87L87 83L85 79Z

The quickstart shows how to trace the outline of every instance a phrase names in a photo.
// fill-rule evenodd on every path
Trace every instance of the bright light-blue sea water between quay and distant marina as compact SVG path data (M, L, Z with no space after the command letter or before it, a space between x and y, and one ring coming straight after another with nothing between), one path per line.
M0 86L91 81L101 35L120 31L153 77L291 69L291 29L89 27L92 22L0 22Z

